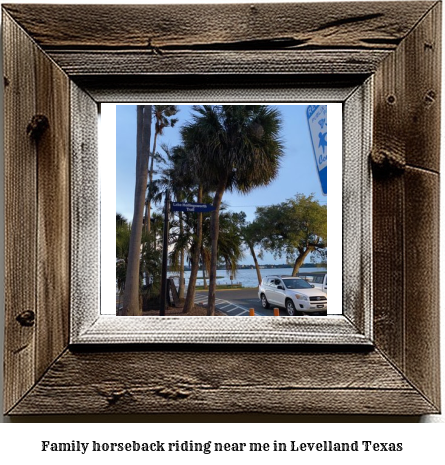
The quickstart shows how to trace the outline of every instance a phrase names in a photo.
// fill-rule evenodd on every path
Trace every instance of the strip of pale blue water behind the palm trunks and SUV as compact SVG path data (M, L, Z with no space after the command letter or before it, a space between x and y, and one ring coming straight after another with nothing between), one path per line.
M291 275L292 274L292 268L262 268L260 270L261 272L261 277L264 278L265 276L269 276L271 274L287 274ZM321 272L326 272L326 268L300 268L300 273L301 274L311 274L311 273L321 273ZM169 275L173 275L176 273L169 273ZM237 270L236 274L233 276L233 281L230 280L230 272L225 271L225 270L217 270L216 275L220 276L219 279L216 280L216 284L238 284L241 283L243 287L257 287L258 286L258 278L256 274L255 269L243 269L243 270ZM188 285L189 277L190 277L190 271L186 271L184 273L185 276L185 284ZM201 278L201 279L200 279ZM196 284L198 286L202 285L204 281L202 280L202 270L199 270L198 272L198 280ZM207 285L209 284L209 278L207 276Z

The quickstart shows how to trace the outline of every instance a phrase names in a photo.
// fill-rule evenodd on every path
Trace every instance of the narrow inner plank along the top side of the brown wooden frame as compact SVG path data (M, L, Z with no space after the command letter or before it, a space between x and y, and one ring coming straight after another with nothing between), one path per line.
M49 51L70 76L190 74L371 74L389 50Z

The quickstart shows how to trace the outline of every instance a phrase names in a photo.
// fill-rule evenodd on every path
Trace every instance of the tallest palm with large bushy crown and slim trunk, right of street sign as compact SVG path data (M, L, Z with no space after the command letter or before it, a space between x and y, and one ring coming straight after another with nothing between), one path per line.
M193 126L205 177L216 186L211 215L212 240L207 313L215 313L219 211L226 190L247 193L269 184L283 155L279 112L266 105L194 106Z

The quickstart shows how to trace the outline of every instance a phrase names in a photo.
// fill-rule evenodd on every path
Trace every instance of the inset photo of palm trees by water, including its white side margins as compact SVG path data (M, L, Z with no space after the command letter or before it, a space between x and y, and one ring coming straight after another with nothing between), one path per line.
M142 118L145 111L151 115L147 120ZM329 172L330 177L341 179L340 103L102 105L101 124L106 137L103 144L99 143L99 173L103 179L100 182L101 314L134 314L127 272L132 267L130 243L138 219L137 230L142 231L136 247L136 258L140 261L137 279L142 302L136 300L140 316L159 316L161 307L165 316L341 314L342 227L341 222L335 222L334 215L330 224L333 228L337 225L336 236L330 237L339 247L330 257L338 272L331 271L330 298L337 305L327 304L328 111L329 153L339 161ZM239 145L236 153L241 154L238 159L230 156L228 143L212 149L207 141L209 134L206 139L197 140L213 118L217 124L211 126L212 134L216 138L224 134L230 146L236 142ZM137 124L140 119L149 124L153 137L152 144L147 141L150 148L138 152L138 128L143 133ZM229 121L233 121L230 126ZM116 137L112 128L116 128ZM243 132L247 138L236 137ZM254 150L251 144L255 144ZM154 153L155 157L145 157L146 168L136 170L144 177L140 182L144 189L138 191L141 195L138 208L143 206L145 212L136 208L135 213L137 153ZM215 207L214 188L220 175L226 186L221 191L219 206ZM213 186L211 176L215 177ZM112 179L116 179L115 184L109 181ZM151 196L147 185L151 186ZM331 183L329 200L338 206L338 216L341 216L341 198L341 182ZM215 302L209 306L211 230L216 215L219 222L216 290ZM310 226L305 227L306 224ZM110 233L114 229L116 245ZM168 231L165 239L168 250L163 248L164 231ZM165 258L167 255L169 258L165 277L163 250ZM300 280L295 281L294 277ZM168 293L161 305L165 281ZM129 285L132 286L131 280ZM277 289L278 285L282 289Z

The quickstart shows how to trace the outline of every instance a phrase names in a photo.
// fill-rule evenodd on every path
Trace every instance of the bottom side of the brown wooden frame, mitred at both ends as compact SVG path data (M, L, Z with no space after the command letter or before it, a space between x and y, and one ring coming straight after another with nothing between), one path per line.
M11 413L435 411L380 354L66 352Z

